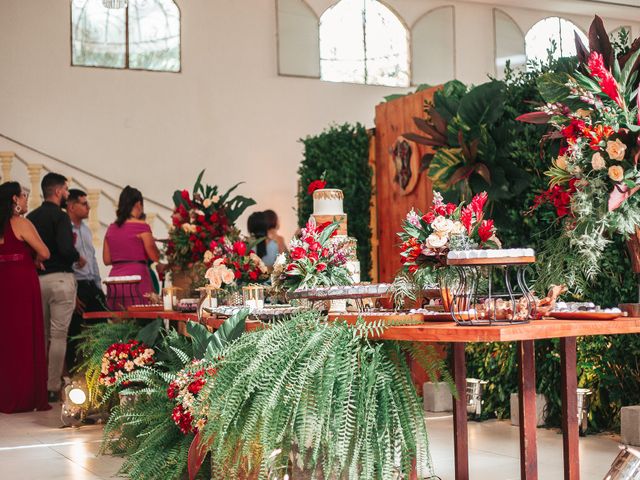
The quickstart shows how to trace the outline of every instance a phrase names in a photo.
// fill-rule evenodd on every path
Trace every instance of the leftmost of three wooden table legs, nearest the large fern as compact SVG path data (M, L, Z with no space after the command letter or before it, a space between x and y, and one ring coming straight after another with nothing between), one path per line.
M458 398L453 399L453 445L456 480L469 479L469 435L467 433L467 365L464 343L453 343L453 379Z

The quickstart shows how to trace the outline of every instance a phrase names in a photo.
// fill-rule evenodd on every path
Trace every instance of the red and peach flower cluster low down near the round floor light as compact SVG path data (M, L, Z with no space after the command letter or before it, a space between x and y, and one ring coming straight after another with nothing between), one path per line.
M152 348L138 340L126 343L114 343L102 356L102 365L98 382L107 387L115 385L125 374L154 363Z

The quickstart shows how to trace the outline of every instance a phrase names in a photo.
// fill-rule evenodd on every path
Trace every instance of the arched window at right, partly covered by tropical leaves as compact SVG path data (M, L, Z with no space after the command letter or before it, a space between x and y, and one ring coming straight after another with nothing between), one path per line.
M547 50L555 43L554 58L572 57L576 54L575 33L585 45L589 44L582 30L569 20L560 17L549 17L540 20L527 32L525 48L527 60L546 60Z

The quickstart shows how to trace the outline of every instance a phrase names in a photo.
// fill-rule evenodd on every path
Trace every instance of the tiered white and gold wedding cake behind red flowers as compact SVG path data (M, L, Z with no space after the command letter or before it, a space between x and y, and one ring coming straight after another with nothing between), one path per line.
M357 241L347 236L347 214L343 208L344 193L337 188L321 188L313 192L313 213L311 216L318 225L338 222L338 234L334 242L346 244L350 253L347 269L353 283L360 283L360 262L357 256Z

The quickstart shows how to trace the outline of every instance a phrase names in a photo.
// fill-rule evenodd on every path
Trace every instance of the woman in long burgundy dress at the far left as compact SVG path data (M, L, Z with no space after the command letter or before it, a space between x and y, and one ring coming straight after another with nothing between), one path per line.
M0 412L49 410L42 300L36 266L49 258L18 182L0 185Z

